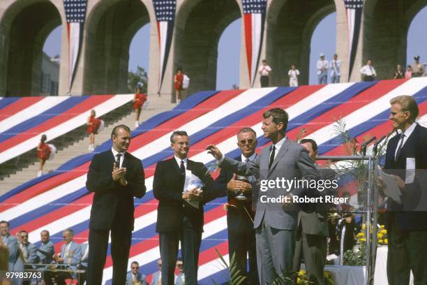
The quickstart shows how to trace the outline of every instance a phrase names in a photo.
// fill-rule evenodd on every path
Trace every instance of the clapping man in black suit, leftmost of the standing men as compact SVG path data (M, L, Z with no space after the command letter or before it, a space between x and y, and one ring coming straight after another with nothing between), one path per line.
M141 160L126 152L130 144L128 126L115 126L111 139L112 149L95 154L87 174L86 187L95 193L89 221L89 285L102 282L110 231L112 284L125 284L134 223L133 197L142 198L146 191Z

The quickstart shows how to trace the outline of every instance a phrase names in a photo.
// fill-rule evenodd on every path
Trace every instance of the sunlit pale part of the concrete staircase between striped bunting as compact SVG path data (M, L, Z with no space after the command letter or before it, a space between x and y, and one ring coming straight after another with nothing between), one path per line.
M157 95L149 96L149 105L148 108L142 110L142 114L140 116L140 123L145 122L150 117L157 115L160 112L165 112L167 110L171 110L175 107L175 104L168 103L169 100L165 100L163 97L159 97ZM167 102L165 102L167 101ZM95 145L101 145L106 140L110 140L112 126L118 124L125 124L129 126L130 129L135 129L135 113L130 112L129 115L122 117L116 122L110 124L110 126L106 126L103 131L98 133L95 136ZM45 166L43 167L43 173L49 173L53 170L56 170L63 163L66 163L70 159L73 159L76 156L80 156L81 154L87 154L89 152L89 136L84 136L84 138L76 140L71 143L67 147L59 150L57 154L54 156L52 161L46 161ZM33 162L29 166L18 170L16 173L10 175L9 177L0 180L0 195L3 193L7 193L11 189L32 180L36 177L38 171L38 162Z

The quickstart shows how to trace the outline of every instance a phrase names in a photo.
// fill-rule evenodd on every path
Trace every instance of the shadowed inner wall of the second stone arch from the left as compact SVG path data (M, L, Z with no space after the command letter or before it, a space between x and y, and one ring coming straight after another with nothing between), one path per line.
M150 22L147 1L100 0L88 8L84 33L83 93L127 93L129 46ZM90 10L89 10L90 9Z

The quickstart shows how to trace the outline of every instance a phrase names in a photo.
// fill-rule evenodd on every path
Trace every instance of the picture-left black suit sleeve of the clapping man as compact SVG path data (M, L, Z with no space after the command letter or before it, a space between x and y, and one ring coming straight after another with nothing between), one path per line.
M86 187L89 192L102 193L112 192L117 184L112 180L112 173L101 173L100 165L101 156L93 156L89 173L87 173Z

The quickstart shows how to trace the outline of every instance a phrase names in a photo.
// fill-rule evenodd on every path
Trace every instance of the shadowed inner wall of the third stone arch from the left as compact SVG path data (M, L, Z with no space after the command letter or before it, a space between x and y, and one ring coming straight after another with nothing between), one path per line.
M177 10L174 68L190 78L187 94L216 88L218 41L225 28L241 17L235 0L187 0ZM172 77L173 80L173 77Z

